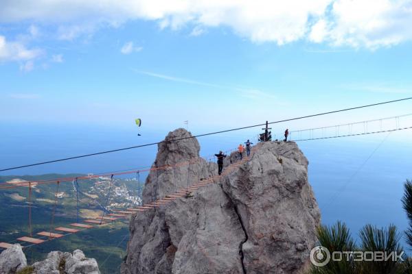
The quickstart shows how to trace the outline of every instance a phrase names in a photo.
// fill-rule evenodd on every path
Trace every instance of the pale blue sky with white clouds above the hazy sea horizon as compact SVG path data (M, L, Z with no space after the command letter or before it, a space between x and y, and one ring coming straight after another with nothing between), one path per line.
M411 1L1 2L0 123L205 132L412 94Z

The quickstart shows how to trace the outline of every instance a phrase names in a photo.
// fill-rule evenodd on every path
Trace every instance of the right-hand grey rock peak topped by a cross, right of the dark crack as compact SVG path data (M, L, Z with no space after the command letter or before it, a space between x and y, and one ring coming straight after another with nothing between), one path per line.
M247 234L247 273L298 273L316 241L320 212L308 184L308 160L295 142L266 142L221 180Z

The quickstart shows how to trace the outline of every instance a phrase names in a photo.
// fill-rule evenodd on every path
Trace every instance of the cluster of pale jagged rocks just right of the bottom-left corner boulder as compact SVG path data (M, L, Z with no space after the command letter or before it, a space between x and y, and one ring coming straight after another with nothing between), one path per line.
M69 252L52 251L46 260L32 265L34 274L100 274L98 263L95 259L84 256L83 251L77 249L73 254Z

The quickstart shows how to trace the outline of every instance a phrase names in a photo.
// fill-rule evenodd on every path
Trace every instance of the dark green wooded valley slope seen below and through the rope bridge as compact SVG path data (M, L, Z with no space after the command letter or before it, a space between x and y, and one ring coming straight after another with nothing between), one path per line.
M19 176L19 178L36 181L40 179L53 179L56 177L69 176L71 177L73 174L47 174L44 176L27 175ZM74 174L74 176L79 175ZM2 176L0 177L0 182L6 182L16 177L17 176ZM93 182L82 181L80 188L87 189L91 185L93 185ZM132 186L133 185L130 184L130 187ZM41 191L36 192L36 188ZM50 228L54 203L36 201L36 199L49 199L53 201L54 192L56 192L56 184L46 184L36 186L36 188L34 188L34 191L32 192L32 201L34 201L34 205L32 206L33 231L47 231ZM73 186L71 182L61 183L59 186L59 192L60 191L69 193L70 197L58 199L56 216L54 218L54 227L59 225L67 226L68 223L73 223L76 221L76 199L74 199ZM17 193L26 199L23 201L16 201L9 197L13 193ZM21 236L27 236L27 195L28 188L26 187L0 190L0 203L3 205L0 207L0 241L11 242ZM100 199L104 199L104 197L100 197ZM81 208L98 209L95 203L93 203L90 199L82 199L80 206ZM59 240L52 240L42 245L29 247L25 249L27 260L29 260L29 262L44 260L49 251L59 250L72 252L75 249L82 249L86 256L98 260L102 273L118 273L122 258L126 255L126 244L128 241L127 223L128 221L124 220L124 223L115 223L112 225L104 225L104 227L101 228L84 230L78 234L65 236ZM104 262L105 260L106 262Z

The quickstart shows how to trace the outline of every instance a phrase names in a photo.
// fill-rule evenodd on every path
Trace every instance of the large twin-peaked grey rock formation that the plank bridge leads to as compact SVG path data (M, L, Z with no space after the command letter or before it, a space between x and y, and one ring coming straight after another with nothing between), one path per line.
M166 140L181 136L190 134L176 129ZM166 142L159 145L155 166L192 157L198 157L194 138ZM233 153L227 163L234 161ZM152 171L144 201L152 201L155 192L158 198L174 192L171 185L185 187L187 177L193 184L216 172L203 161L196 167ZM217 184L133 216L122 273L301 272L320 222L307 167L295 142L266 142Z

